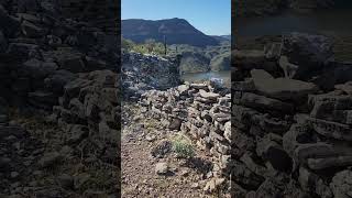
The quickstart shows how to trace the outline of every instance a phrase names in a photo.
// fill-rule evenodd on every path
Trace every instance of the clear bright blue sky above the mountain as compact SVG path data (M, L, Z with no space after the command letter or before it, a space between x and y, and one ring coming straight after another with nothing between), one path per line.
M121 0L122 20L180 18L208 35L231 34L231 0Z

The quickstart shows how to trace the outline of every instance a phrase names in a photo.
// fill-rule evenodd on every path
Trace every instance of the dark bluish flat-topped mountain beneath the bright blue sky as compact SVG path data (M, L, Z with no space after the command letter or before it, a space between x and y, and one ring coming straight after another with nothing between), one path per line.
M167 44L188 44L199 47L219 44L218 40L204 34L188 21L178 18L157 21L122 20L121 28L122 36L136 43L143 43L147 38L163 42L165 35Z

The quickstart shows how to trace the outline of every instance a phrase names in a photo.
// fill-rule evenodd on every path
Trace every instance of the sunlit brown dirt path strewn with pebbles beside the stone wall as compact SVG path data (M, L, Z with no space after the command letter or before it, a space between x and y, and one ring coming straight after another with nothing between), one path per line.
M205 153L196 150L191 161L179 160L172 152L162 158L154 157L153 148L172 140L177 132L161 130L157 120L139 117L125 123L122 133L122 197L219 197L204 191L207 170L211 167ZM169 173L156 174L156 164L164 162Z

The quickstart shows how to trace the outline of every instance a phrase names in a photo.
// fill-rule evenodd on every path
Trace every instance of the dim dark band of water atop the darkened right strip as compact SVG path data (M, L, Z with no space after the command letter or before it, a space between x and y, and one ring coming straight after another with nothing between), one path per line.
M288 32L350 35L351 21L351 9L334 9L315 13L286 12L275 16L242 19L234 23L235 34L240 36L280 35Z

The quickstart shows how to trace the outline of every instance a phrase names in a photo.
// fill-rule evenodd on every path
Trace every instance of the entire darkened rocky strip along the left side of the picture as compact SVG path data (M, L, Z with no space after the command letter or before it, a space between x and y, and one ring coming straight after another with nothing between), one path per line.
M0 197L119 194L118 4L0 1Z

